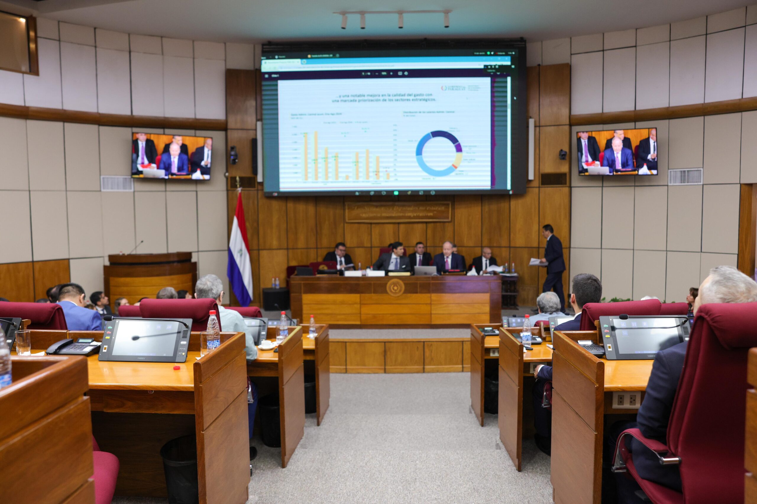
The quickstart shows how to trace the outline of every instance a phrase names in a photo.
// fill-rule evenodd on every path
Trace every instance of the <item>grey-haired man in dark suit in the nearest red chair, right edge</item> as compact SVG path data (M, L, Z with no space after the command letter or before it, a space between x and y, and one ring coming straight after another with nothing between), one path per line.
M757 301L757 283L733 266L717 266L699 286L699 295L694 301L694 315L699 307L707 303L751 303ZM696 319L695 319L696 323ZM684 369L687 342L665 348L657 352L652 365L652 373L646 384L646 395L633 424L613 425L606 443L607 450L614 451L618 435L626 428L637 427L646 438L665 443L668 422L673 409L678 380ZM694 363L696 365L696 363ZM640 477L654 481L665 487L681 492L681 473L678 465L660 465L655 453L644 448L638 441L632 441L634 465ZM607 452L609 453L609 452ZM622 476L622 475L621 475ZM625 477L624 477L625 480ZM626 482L618 482L618 500L628 496ZM622 489L622 490L621 490Z

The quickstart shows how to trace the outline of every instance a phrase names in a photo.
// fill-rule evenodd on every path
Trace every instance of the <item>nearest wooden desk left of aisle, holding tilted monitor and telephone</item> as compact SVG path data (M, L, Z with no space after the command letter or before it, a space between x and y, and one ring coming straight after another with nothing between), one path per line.
M33 331L35 351L62 339L61 332L63 338L89 336L98 341L103 335ZM195 434L200 502L246 502L250 470L245 335L222 332L221 341L217 351L200 359L190 348L186 363L180 364L86 357L92 431L101 449L120 461L117 495L166 496L160 447ZM174 370L175 365L180 369Z

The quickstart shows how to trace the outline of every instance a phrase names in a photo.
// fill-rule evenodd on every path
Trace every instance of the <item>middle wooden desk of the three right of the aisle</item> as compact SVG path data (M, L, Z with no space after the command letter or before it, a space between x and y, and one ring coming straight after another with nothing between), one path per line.
M499 397L497 398L497 423L500 428L500 441L512 459L518 471L521 470L522 440L523 440L523 411L531 410L531 387L534 382L534 364L551 363L552 349L547 342L533 345L533 350L525 351L523 342L510 332L511 329L500 327L500 359L499 359ZM541 332L539 327L533 331ZM524 379L528 387L528 394L524 393ZM531 415L529 415L531 417Z

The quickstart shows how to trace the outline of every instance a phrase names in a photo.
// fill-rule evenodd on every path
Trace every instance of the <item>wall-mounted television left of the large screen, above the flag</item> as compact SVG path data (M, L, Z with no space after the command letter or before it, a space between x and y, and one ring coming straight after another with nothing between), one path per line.
M132 135L132 178L210 180L213 138Z

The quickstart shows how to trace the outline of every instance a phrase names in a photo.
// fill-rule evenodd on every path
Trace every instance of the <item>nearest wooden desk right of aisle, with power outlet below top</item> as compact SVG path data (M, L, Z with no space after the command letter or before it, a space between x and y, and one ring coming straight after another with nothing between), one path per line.
M653 360L605 360L576 339L597 332L556 331L553 335L552 462L555 504L600 504L604 416L637 410L612 408L613 391L643 391ZM643 400L643 394L642 394Z

